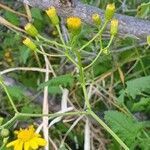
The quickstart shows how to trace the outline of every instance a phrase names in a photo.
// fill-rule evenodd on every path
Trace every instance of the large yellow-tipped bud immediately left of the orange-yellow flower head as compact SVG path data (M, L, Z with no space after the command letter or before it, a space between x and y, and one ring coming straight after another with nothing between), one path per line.
M55 7L50 7L48 10L46 10L46 13L54 26L59 24L59 18Z

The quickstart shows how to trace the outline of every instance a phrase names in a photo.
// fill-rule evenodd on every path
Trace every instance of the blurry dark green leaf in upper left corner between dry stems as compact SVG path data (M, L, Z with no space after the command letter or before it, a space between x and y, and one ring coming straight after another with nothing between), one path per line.
M19 17L16 14L14 14L10 11L6 11L4 15L5 15L5 18L9 22L11 22L13 25L19 26L20 20L19 20Z

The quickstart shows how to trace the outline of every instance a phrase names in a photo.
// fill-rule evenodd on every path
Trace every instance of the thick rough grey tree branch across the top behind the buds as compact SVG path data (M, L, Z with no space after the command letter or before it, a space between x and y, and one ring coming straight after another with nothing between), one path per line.
M96 7L83 4L78 0L19 0L32 7L38 7L40 9L47 9L50 6L54 6L58 10L58 14L61 17L78 16L85 23L92 24L91 15L98 13L104 18L104 12ZM72 5L73 3L73 5ZM134 36L138 39L146 39L147 35L150 35L150 21L142 20L131 16L125 16L121 14L115 14L115 17L119 20L119 33L124 36Z

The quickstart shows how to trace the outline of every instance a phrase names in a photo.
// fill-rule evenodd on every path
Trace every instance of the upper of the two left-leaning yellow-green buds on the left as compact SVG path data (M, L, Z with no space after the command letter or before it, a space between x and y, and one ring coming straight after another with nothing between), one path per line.
M29 35L31 35L33 37L36 37L38 35L37 29L31 23L26 24L26 26L24 28Z

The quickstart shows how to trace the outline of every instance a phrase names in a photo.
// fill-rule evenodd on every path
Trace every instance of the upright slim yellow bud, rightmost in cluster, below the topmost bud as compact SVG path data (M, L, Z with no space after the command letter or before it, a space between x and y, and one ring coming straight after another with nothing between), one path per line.
M111 25L110 25L110 34L111 35L116 35L117 34L117 32L118 32L118 20L117 19L113 19L112 21L111 21Z

